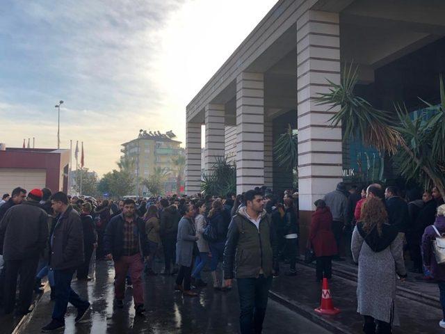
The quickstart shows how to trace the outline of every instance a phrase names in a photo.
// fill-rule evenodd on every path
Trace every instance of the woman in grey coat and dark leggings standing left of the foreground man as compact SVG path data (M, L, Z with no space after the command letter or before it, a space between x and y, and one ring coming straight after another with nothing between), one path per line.
M195 208L189 204L186 212L179 221L177 243L176 243L176 263L181 266L176 278L175 290L182 291L184 296L197 296L191 291L191 273L193 264L193 248L196 247L198 237L195 235ZM184 280L184 288L182 281Z

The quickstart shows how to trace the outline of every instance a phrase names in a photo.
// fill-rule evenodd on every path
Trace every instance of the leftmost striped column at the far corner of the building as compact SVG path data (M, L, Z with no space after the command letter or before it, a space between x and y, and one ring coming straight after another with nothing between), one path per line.
M201 191L201 123L186 124L186 194Z

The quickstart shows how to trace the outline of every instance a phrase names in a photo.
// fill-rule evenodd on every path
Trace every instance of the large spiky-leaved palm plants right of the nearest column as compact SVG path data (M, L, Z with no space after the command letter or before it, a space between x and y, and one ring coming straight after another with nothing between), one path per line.
M412 119L405 105L395 105L396 113L375 109L354 94L357 67L344 67L341 84L330 83L330 92L318 94L318 104L341 109L330 119L331 125L343 125L343 140L361 138L382 154L397 155L401 174L421 180L426 187L437 186L445 198L445 88L440 76L441 103L429 120ZM423 101L423 100L422 100ZM424 102L424 101L423 101ZM425 102L427 106L432 106Z

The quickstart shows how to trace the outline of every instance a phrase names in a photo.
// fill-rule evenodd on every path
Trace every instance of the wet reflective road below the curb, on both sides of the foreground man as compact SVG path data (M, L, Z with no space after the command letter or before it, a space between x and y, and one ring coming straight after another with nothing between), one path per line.
M160 264L157 264L160 266ZM161 269L161 268L159 268ZM238 333L238 294L236 286L230 292L216 292L204 287L195 298L183 297L172 287L175 277L151 276L145 279L145 317L135 316L131 287L127 287L124 309L113 309L112 262L98 262L95 280L73 281L72 286L92 303L90 320L74 326L76 310L69 305L65 331L56 333ZM208 273L204 278L208 280ZM39 333L51 320L53 303L45 292L22 333ZM263 333L330 333L304 317L269 300Z

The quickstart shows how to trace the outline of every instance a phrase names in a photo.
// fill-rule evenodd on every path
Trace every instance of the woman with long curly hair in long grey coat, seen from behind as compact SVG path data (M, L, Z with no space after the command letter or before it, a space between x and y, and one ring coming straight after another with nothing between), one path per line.
M364 316L366 334L391 333L399 325L395 307L397 275L405 280L403 234L387 224L382 200L367 198L355 226L351 251L359 263L357 312Z

